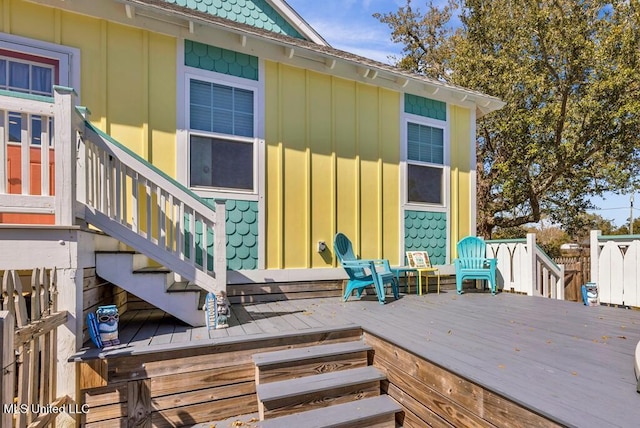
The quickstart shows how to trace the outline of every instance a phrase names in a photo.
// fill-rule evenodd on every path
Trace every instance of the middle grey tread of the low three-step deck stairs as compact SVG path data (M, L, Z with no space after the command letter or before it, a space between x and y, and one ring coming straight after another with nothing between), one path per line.
M256 385L256 392L258 400L267 403L384 379L384 373L373 366L367 366Z

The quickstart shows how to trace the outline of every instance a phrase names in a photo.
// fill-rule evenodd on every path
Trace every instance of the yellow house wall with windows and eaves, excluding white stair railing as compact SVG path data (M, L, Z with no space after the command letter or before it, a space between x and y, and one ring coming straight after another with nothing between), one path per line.
M100 130L226 199L230 282L334 277L337 232L441 265L475 233L475 122L498 99L333 49L279 0L0 5L0 87L72 87Z

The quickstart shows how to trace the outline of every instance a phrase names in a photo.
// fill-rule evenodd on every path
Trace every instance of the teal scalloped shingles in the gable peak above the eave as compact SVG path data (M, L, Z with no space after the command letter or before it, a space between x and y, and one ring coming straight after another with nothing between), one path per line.
M164 0L191 10L304 39L266 0Z

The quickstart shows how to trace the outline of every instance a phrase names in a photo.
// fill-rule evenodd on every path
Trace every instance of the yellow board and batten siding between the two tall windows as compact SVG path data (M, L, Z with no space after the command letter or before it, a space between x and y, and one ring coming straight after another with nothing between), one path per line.
M336 232L398 263L400 94L265 61L268 269L335 266Z

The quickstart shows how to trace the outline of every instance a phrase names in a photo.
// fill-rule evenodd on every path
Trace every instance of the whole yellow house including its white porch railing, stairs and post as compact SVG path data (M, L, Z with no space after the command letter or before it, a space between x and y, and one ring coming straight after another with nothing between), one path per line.
M338 232L446 270L503 105L334 49L283 0L0 0L0 270L56 277L73 395L101 304L202 325L203 289L344 278Z

